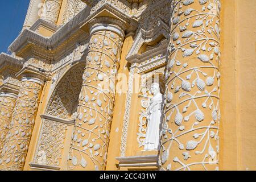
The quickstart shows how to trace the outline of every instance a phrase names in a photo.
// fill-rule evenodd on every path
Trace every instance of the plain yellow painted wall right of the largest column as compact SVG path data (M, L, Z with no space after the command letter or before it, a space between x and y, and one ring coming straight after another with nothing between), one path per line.
M256 170L256 1L221 3L220 169Z

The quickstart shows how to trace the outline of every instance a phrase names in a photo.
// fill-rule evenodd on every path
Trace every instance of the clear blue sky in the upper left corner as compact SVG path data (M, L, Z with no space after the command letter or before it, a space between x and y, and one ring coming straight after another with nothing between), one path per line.
M22 30L29 0L1 0L0 53L7 48Z

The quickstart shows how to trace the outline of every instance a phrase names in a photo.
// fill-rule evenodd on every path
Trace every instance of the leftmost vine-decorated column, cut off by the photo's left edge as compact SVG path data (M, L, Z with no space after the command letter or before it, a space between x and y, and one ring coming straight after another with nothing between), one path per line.
M2 152L3 144L9 130L11 115L13 113L16 98L17 95L15 93L0 93L0 152Z

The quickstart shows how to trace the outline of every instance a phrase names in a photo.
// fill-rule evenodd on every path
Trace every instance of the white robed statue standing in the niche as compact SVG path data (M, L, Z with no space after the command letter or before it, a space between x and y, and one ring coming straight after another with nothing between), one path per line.
M144 150L159 150L160 123L163 119L163 94L160 93L160 86L154 82L151 85L153 97L147 107L147 132L144 140Z

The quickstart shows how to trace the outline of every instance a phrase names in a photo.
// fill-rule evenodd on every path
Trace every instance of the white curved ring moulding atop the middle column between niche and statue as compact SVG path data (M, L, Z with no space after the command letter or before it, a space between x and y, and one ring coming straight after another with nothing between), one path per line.
M90 28L90 35L93 35L95 32L102 30L109 30L115 32L122 38L122 40L125 37L125 32L123 32L121 28L113 26L112 24L96 24L95 26L92 26L92 28Z

